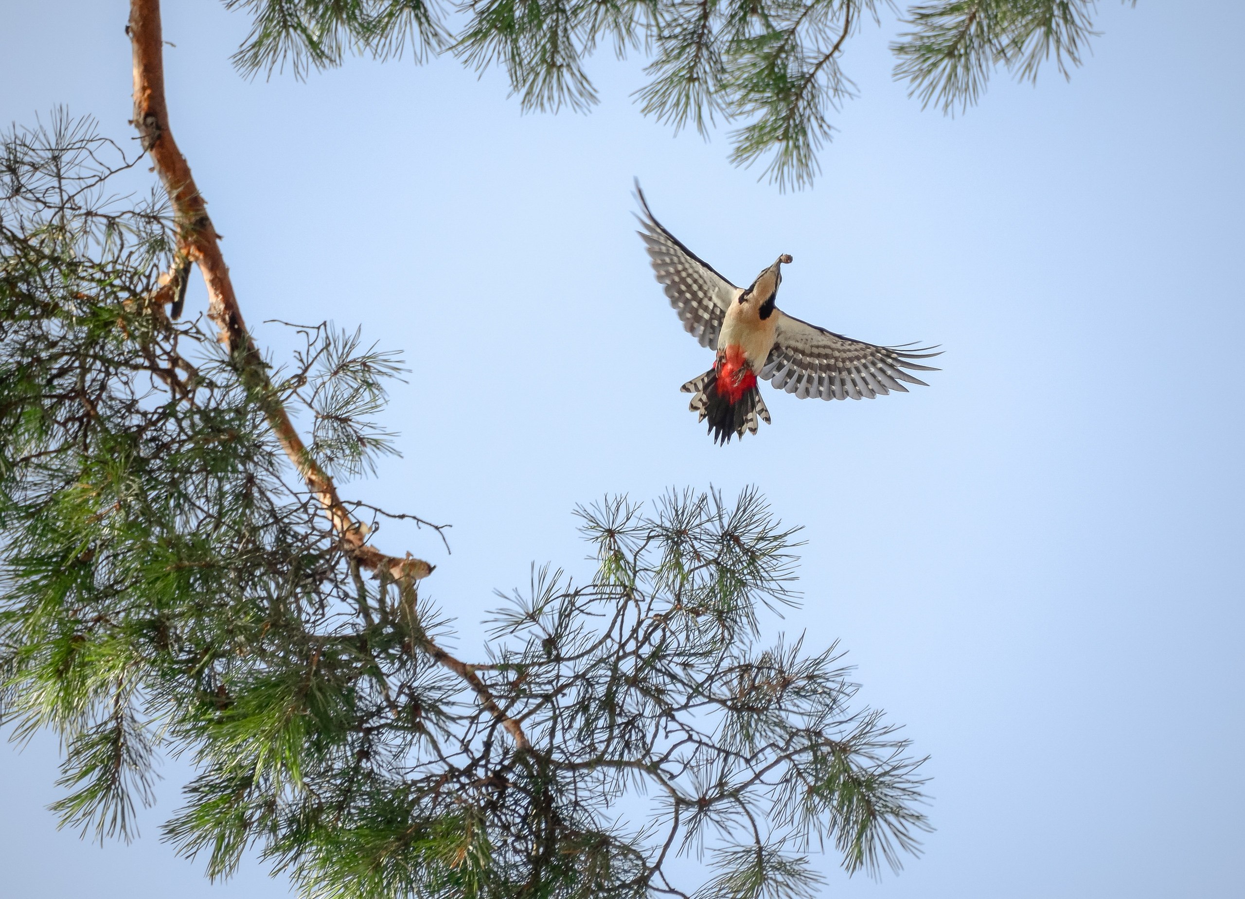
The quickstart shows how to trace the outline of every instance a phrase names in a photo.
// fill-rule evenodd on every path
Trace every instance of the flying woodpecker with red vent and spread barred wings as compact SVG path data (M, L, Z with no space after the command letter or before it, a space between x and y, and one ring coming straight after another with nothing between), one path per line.
M639 182L635 191L644 209L637 215L644 230L637 233L649 249L657 281L665 286L684 330L701 346L717 349L713 367L682 386L685 393L695 395L691 411L700 413L700 421L708 418L716 443L730 443L732 435L742 440L745 431L756 433L758 420L769 423L758 377L801 400L872 400L893 390L906 393L900 381L925 385L908 369L937 371L913 361L941 355L929 352L933 346L874 346L777 309L782 265L792 260L786 253L747 288L735 286L654 218Z

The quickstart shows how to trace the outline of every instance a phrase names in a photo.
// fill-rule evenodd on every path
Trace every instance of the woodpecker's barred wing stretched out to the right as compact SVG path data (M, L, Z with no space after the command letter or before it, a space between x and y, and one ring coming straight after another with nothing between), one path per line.
M908 387L900 381L925 382L905 370L937 371L913 361L941 355L928 352L933 346L874 346L793 319L782 310L776 310L776 314L778 324L774 349L769 351L761 377L769 379L774 387L794 393L801 400L807 396L819 396L823 400L872 400L893 390L906 393Z

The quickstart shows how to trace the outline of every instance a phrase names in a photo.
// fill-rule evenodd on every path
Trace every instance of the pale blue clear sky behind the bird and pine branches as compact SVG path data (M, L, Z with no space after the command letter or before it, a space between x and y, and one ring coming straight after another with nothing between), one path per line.
M122 0L0 10L0 122L67 103L129 137ZM590 116L523 116L451 59L248 82L243 15L164 16L172 125L260 341L327 318L407 354L405 458L347 493L453 523L448 558L380 542L438 563L466 656L530 562L589 570L576 502L756 483L807 528L787 629L842 639L933 757L926 855L880 883L827 858L827 895L1241 895L1245 6L1103 2L1071 83L1000 78L956 120L905 97L893 24L868 27L860 98L787 195L723 133L641 118L635 62L591 66ZM713 446L679 393L710 355L652 280L632 176L727 276L792 253L783 308L941 342L945 370L876 401L771 392L772 427ZM286 894L254 865L212 887L159 842L176 765L143 838L100 849L45 809L55 741L0 760L0 895Z

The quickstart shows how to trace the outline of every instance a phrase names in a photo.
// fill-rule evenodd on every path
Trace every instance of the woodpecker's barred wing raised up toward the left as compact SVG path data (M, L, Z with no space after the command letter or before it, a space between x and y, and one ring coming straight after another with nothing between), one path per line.
M696 337L701 346L716 347L717 332L722 329L722 316L731 308L731 301L738 295L740 289L661 227L649 210L639 183L635 186L635 192L644 208L644 215L636 217L644 230L637 233L649 248L649 258L652 259L657 281L666 288L666 296L679 313L684 330Z

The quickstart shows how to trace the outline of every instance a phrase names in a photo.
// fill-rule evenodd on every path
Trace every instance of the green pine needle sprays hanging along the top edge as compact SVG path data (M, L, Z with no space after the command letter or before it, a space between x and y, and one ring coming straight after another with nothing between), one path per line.
M1128 0L1125 0L1128 1ZM1135 1L1135 0L1133 0ZM248 73L340 65L349 52L416 60L449 52L502 66L525 110L584 110L596 91L584 64L608 45L640 52L646 115L707 133L737 123L731 159L781 187L803 187L830 136L829 113L853 96L842 68L847 39L893 4L878 0L225 0L253 27L234 55ZM1052 60L1081 65L1096 0L941 0L903 11L891 45L895 77L944 111L976 102L1002 66L1033 80Z

